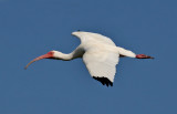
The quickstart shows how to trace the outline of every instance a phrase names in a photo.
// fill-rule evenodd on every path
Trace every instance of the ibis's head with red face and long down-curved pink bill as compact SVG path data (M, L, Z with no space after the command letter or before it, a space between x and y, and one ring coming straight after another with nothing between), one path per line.
M41 56L38 56L38 58L35 58L34 60L32 60L31 62L29 62L27 65L25 65L25 70L28 69L28 66L31 64L31 63L33 63L33 62L35 62L35 61L39 61L39 60L42 60L42 59L55 59L55 54L59 54L60 52L58 52L58 51L50 51L50 52L48 52L46 54L43 54L43 55L41 55Z

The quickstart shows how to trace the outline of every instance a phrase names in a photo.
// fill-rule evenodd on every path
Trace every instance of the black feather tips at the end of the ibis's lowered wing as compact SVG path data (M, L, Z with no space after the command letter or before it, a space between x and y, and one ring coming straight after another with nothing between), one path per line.
M113 82L111 82L107 77L98 77L98 76L93 76L93 79L95 79L95 80L97 80L97 81L100 81L103 85L111 85L111 86L113 86Z

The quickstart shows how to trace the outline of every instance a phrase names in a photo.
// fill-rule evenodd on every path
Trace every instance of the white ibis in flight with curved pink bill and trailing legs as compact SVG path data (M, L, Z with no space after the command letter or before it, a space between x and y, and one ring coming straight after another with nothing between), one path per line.
M110 38L98 33L76 31L72 32L72 35L81 40L81 44L73 52L64 54L59 51L50 51L32 60L27 64L25 69L31 63L42 59L70 61L76 58L83 58L83 62L93 79L100 81L103 85L113 86L116 64L121 56L154 59L145 54L135 54L129 50L116 46Z

